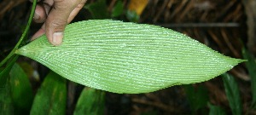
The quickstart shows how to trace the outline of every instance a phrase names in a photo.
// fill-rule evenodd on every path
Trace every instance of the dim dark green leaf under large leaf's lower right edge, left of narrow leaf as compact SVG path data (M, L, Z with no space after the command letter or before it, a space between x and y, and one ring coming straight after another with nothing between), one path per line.
M186 96L188 97L190 107L194 114L196 114L196 112L200 109L206 110L203 108L207 107L207 101L209 101L209 96L205 87L199 85L194 88L191 84L188 84L183 85L183 88L185 89Z

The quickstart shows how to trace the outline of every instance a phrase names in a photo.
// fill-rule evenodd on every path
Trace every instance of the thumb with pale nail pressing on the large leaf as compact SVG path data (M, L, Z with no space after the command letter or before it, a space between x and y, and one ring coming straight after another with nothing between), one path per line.
M45 21L45 34L48 37L49 43L53 45L60 45L62 43L67 19L79 3L80 0L55 0L53 9L51 9Z

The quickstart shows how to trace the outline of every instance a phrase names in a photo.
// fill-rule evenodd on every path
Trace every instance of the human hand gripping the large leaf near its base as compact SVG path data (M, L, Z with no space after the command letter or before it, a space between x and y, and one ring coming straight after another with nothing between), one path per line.
M49 43L60 45L65 26L79 13L86 0L38 0L38 2L42 4L37 5L33 20L44 24L32 36L32 40L45 33Z

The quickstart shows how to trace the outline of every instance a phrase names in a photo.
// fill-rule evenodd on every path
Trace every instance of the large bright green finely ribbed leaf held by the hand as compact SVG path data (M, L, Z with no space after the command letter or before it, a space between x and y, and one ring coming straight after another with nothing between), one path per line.
M61 46L41 36L16 54L73 82L131 94L203 82L244 61L218 54L170 29L117 20L70 24Z

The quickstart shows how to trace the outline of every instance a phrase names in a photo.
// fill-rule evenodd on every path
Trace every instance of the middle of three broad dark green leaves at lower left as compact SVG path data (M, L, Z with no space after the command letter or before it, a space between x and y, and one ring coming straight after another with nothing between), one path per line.
M31 115L64 115L66 101L66 79L55 72L49 72L38 89L30 113Z

